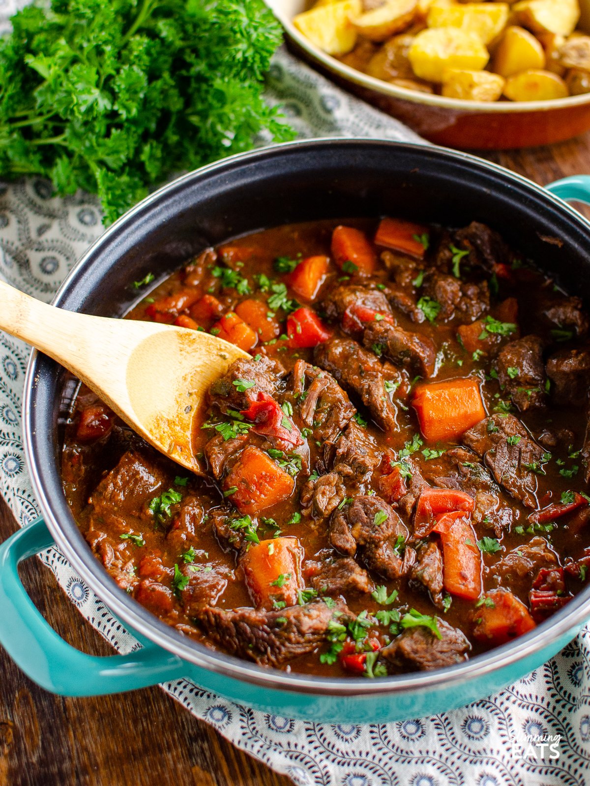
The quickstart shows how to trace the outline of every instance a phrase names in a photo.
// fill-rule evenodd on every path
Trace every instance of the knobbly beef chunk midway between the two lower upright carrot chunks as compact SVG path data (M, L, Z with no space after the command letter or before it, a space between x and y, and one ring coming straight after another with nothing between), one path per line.
M383 518L385 516L385 518ZM359 496L347 509L330 519L330 544L347 556L357 549L367 564L382 575L400 575L397 539L407 538L407 528L393 508L377 496Z

